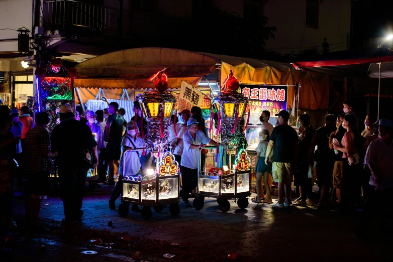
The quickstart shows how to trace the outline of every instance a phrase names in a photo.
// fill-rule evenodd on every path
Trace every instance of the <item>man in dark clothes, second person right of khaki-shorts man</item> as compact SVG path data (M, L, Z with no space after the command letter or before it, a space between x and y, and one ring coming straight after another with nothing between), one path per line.
M318 187L321 189L321 198L318 203L318 209L326 207L328 202L327 193L333 186L332 174L335 161L335 154L329 147L329 137L335 132L336 117L334 115L327 115L325 117L325 126L316 130L316 145L318 146L315 152L315 161L317 161L317 179Z

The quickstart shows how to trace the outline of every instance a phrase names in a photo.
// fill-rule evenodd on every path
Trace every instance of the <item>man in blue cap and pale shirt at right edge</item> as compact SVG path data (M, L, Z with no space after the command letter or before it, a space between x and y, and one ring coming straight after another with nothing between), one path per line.
M393 140L391 131L393 123L390 119L382 118L378 122L378 139L370 143L367 149L364 165L371 171L370 197L364 209L364 215L355 230L357 237L364 237L371 218L375 214L382 214L390 207L393 194Z

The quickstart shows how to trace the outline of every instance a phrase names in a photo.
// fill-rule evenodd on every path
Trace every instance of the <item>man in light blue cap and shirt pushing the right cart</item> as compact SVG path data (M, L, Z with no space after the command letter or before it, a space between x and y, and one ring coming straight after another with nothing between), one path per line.
M183 189L183 205L191 207L188 195L198 183L198 158L199 150L207 144L217 145L217 142L208 138L201 130L198 130L198 121L189 118L187 121L189 130L183 135L183 154L181 156L181 181Z

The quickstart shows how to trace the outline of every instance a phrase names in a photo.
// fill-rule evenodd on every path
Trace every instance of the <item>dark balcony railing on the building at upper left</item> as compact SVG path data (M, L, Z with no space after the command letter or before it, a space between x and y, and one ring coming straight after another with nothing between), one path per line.
M103 36L118 35L118 9L113 7L86 4L73 0L51 0L44 3L43 19L46 26L52 29L65 30L73 26L72 30L92 30ZM167 20L167 19L165 19ZM158 26L162 18L122 10L121 20L123 38L131 34L156 36L160 34ZM77 27L77 28L75 28Z

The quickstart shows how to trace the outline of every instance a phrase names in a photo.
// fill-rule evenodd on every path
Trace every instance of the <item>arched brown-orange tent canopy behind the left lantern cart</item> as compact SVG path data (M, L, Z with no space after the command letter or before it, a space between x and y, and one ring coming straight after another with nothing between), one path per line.
M152 88L153 84L146 82L146 79L163 68L166 68L169 88L180 88L182 80L196 86L204 75L215 71L219 63L213 57L179 49L127 49L97 56L77 65L79 76L74 80L74 86L79 87L83 101L94 99L100 88L106 90L108 97L113 95L113 98L119 98L123 93L121 89ZM134 92L130 92L129 96L133 100Z

